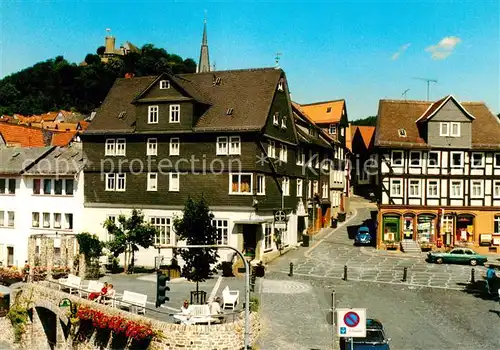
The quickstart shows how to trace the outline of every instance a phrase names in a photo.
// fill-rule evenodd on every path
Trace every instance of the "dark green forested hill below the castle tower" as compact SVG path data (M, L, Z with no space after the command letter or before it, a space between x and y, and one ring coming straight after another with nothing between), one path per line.
M183 60L152 44L144 45L140 51L106 64L96 54L88 54L84 65L58 56L11 74L0 80L0 115L60 109L89 113L104 100L115 79L125 73L144 76L196 71L193 59Z

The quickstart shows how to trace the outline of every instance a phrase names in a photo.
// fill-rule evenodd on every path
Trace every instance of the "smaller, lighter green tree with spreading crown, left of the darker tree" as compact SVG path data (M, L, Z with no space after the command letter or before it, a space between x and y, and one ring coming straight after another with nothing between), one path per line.
M132 215L120 215L118 223L108 219L104 222L113 239L107 242L106 247L115 257L125 254L125 272L133 271L135 252L139 247L149 248L153 245L157 230L150 223L144 221L144 214L140 210L132 210Z

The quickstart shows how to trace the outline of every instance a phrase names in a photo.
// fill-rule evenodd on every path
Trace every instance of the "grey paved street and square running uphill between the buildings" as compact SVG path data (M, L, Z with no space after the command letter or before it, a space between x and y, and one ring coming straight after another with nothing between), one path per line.
M354 247L349 233L370 217L363 203L356 210L308 257L308 248L301 248L269 266L259 286L262 349L331 349L332 290L337 307L367 308L368 317L383 322L392 349L500 348L500 305L468 289L470 266L434 265L424 257ZM290 262L293 277L287 275ZM341 279L344 265L348 281ZM403 267L408 282L401 282ZM476 267L478 279L483 270Z

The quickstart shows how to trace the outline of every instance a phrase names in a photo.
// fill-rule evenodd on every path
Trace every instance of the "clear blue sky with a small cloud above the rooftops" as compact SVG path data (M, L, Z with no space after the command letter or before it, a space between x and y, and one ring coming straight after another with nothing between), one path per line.
M0 77L104 44L153 43L198 60L204 11L218 70L274 65L299 103L345 98L350 119L382 98L452 93L500 112L500 6L481 1L0 1ZM399 54L398 54L399 53Z

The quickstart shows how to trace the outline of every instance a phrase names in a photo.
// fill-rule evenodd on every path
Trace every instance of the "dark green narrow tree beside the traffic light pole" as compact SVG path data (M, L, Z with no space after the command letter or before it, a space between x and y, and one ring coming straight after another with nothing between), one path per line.
M210 212L208 204L203 198L194 200L188 198L181 218L174 219L174 230L180 240L187 245L212 245L217 244L217 229L213 225L214 215ZM188 281L198 283L212 278L216 269L219 253L216 248L182 249L179 253L184 260L181 276Z

